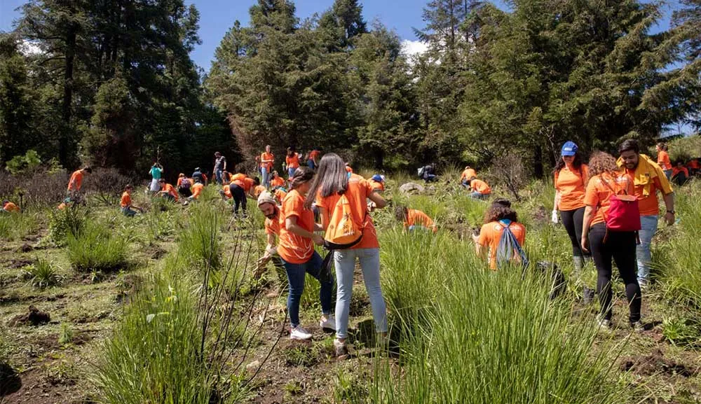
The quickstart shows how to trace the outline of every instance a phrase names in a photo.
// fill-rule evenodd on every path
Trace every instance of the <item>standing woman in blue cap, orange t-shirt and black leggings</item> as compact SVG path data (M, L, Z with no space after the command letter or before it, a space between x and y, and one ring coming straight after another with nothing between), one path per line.
M552 221L557 223L559 211L562 225L572 242L572 262L576 275L580 274L585 258L582 251L582 223L584 219L584 195L589 182L589 167L582 162L578 147L573 141L562 145L560 159L554 170L555 201ZM585 297L590 295L585 289Z

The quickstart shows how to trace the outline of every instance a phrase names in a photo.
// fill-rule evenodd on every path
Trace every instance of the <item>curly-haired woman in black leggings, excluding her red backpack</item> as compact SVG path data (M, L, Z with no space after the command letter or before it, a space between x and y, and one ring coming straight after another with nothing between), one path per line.
M611 197L615 195L634 195L633 180L620 171L616 160L608 153L597 152L589 162L589 183L585 193L584 223L582 228L582 250L592 251L594 265L597 267L597 292L601 302L598 316L599 326L610 327L611 316L611 275L615 260L620 278L625 283L625 295L628 300L628 320L635 330L642 330L640 323L641 293L636 275L635 244L636 232L613 231L606 228ZM588 246L587 246L588 244Z

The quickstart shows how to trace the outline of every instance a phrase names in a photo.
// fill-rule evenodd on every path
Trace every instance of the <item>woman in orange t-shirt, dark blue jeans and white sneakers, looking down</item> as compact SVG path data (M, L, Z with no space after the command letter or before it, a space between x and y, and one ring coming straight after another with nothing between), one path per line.
M322 228L314 222L311 209L304 207L305 197L313 179L313 169L299 167L290 181L292 190L285 196L280 210L278 254L283 260L287 282L290 284L290 291L287 294L287 313L290 315L291 340L308 340L312 337L299 322L299 301L304 293L306 274L318 279L320 283L319 300L322 310L320 326L336 329L336 319L331 315L333 284L330 279L320 279L323 260L314 250L314 244L324 244L324 238L315 233Z

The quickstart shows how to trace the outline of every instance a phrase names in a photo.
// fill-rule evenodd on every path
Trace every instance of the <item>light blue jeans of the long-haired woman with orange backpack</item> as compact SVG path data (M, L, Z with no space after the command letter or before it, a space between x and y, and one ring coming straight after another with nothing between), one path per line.
M336 264L336 337L348 337L348 312L353 295L355 258L360 260L365 289L370 298L372 319L378 333L387 332L387 307L380 288L380 249L347 249L334 251Z

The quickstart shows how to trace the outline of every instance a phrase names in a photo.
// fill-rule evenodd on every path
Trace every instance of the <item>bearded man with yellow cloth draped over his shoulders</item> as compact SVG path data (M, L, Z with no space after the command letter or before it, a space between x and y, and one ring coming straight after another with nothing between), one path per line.
M618 153L620 154L617 162L618 167L625 168L626 174L633 181L635 197L638 198L641 224L640 244L638 244L636 252L638 283L642 288L645 288L650 281L652 263L650 244L658 230L660 205L657 193L659 190L662 193L662 199L665 200L667 225L674 224L674 193L662 167L648 156L640 153L640 146L636 140L624 141L620 144Z

